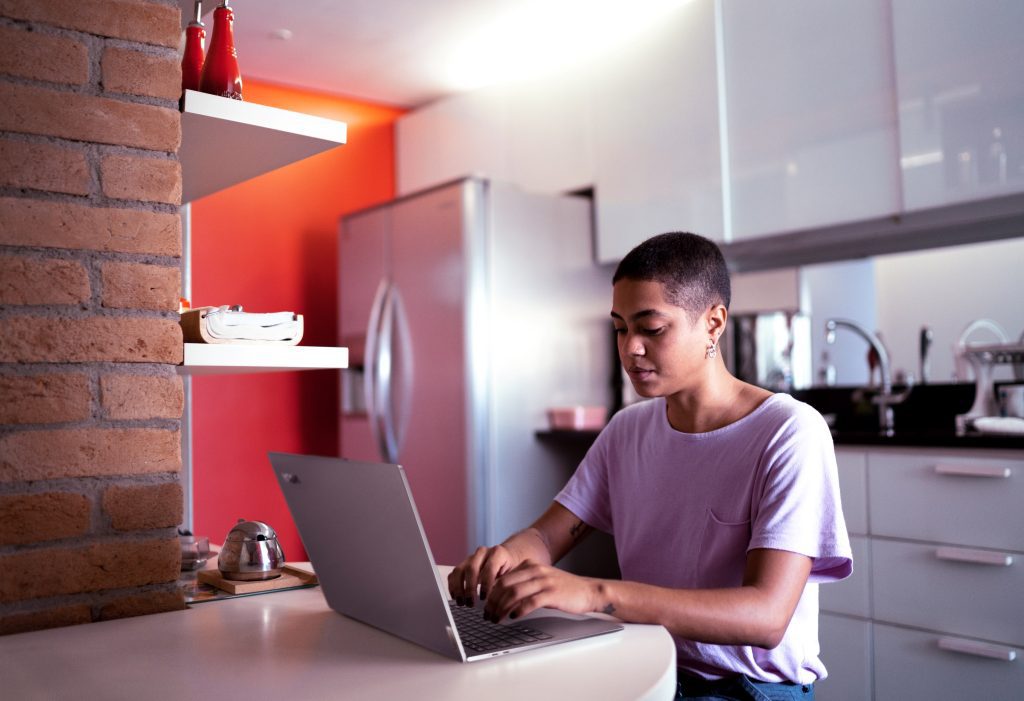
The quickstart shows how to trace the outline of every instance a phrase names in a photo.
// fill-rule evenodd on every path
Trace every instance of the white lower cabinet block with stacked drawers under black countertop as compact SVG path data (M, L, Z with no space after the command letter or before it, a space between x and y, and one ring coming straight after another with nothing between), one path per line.
M1018 698L1024 453L836 453L854 574L820 588L817 698Z

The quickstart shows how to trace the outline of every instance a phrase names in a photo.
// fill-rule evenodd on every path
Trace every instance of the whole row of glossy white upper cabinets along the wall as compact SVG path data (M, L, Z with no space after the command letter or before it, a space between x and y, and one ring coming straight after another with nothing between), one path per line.
M1022 37L1022 0L690 0L598 57L407 115L398 190L591 185L599 262L678 229L863 224L870 246L902 213L1024 192Z

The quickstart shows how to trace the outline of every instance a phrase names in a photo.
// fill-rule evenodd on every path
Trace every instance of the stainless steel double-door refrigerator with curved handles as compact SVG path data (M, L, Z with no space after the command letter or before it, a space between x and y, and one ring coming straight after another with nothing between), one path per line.
M546 409L608 404L590 203L467 178L343 218L341 454L406 467L434 557L536 518L575 467Z

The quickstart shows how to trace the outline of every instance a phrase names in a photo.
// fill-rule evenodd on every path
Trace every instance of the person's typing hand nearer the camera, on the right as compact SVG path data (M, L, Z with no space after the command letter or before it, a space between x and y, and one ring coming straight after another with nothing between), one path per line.
M566 613L606 610L600 599L600 580L569 574L530 560L505 572L485 597L483 615L496 623L506 616L521 618L542 607Z

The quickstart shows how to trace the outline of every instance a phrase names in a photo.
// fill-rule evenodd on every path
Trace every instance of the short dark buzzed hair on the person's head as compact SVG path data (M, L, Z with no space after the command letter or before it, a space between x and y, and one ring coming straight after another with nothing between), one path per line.
M626 254L611 283L624 278L660 282L669 301L693 318L716 304L728 309L732 299L722 251L714 242L685 231L652 236Z

